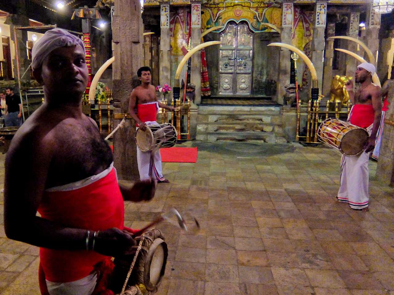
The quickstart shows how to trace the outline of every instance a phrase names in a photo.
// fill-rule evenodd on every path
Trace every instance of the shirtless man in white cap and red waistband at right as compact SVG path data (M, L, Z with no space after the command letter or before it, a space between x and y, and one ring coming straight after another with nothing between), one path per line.
M375 138L379 129L382 100L381 89L372 83L375 66L370 63L362 63L357 67L355 80L361 83L356 93L353 91L353 82L346 83L346 90L353 108L348 121L361 128L366 128L370 137L364 151L356 156L342 156L340 188L338 201L346 202L350 208L368 211L368 160L369 153L374 150Z

